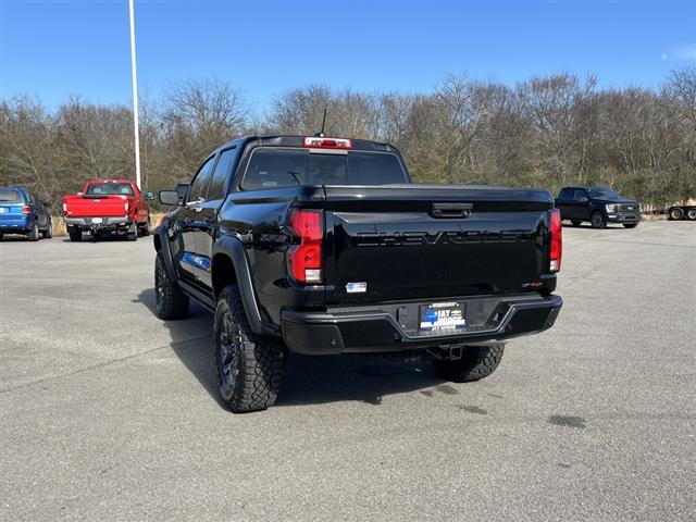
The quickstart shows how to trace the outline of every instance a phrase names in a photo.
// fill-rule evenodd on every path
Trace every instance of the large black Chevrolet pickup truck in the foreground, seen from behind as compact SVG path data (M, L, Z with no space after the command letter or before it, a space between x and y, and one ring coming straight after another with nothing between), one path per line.
M165 320L214 313L220 393L273 405L299 353L430 358L493 373L507 339L549 328L561 222L546 190L412 184L393 146L322 136L223 145L158 227Z

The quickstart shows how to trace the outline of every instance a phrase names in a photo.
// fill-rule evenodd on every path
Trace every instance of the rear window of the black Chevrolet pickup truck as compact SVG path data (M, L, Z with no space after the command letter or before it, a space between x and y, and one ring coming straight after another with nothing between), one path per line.
M243 188L296 185L387 185L408 183L398 157L384 152L310 153L307 149L258 148Z

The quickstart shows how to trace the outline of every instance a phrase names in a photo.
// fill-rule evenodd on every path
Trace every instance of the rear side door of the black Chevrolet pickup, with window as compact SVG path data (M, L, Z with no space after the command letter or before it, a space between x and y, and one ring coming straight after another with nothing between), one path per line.
M229 178L232 177L232 166L236 164L238 152L239 149L237 147L232 147L220 153L220 159L215 164L215 169L208 185L206 200L200 203L201 210L198 215L200 227L198 231L196 253L200 259L204 260L209 268L211 266L212 261L212 246L215 240L214 232L215 224L217 222L217 212L220 211L220 208L225 200L225 196L227 195ZM210 271L198 272L197 275L200 284L204 285L207 288L212 288L213 285Z

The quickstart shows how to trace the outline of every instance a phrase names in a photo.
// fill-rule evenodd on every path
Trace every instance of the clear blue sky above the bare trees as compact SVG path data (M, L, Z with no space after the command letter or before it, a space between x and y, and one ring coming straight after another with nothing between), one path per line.
M127 0L0 0L3 98L130 103ZM552 72L656 87L696 65L696 2L136 0L138 79L216 75L263 111L313 83L430 91L448 72L510 85Z

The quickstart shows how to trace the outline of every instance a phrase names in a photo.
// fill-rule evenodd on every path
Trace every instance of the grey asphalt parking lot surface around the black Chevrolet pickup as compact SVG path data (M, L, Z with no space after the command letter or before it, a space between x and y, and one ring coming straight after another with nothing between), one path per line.
M696 226L564 228L556 326L473 384L296 356L217 399L151 239L0 244L2 520L695 520Z

